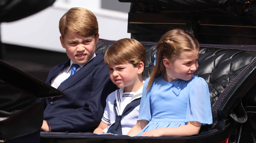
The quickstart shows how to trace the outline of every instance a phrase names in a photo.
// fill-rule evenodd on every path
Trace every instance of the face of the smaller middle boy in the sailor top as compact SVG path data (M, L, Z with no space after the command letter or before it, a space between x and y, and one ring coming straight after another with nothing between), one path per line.
M139 77L144 68L143 62L141 63L137 64L136 67L130 62L109 66L109 76L111 81L119 88L124 87L126 92L136 92L138 90L136 89L136 86L140 83Z

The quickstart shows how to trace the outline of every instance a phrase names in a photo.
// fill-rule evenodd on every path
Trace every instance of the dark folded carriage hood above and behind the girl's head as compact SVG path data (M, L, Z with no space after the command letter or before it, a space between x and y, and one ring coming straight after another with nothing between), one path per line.
M139 41L186 29L203 44L255 45L256 1L119 0L131 2L128 33Z

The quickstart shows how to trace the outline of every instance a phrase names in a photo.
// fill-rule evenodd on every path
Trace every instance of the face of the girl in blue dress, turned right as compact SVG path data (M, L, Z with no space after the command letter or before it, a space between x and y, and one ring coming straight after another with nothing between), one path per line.
M171 82L177 79L190 80L198 68L199 50L184 51L179 58L170 61L164 59L166 74L164 80Z

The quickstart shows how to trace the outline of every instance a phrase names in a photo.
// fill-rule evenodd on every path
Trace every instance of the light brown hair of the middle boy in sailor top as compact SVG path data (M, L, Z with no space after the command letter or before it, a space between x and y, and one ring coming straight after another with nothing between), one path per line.
M139 41L130 38L117 40L108 48L104 56L107 66L131 62L135 67L140 61L145 67L146 50Z

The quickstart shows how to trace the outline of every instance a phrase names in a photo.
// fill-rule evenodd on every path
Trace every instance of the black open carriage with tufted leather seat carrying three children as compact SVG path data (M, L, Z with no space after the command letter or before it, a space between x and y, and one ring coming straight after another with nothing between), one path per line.
M143 73L144 80L154 67L155 46L162 34L172 28L186 29L194 34L200 42L199 68L195 75L203 77L208 83L213 124L202 126L198 135L184 137L130 137L93 133L41 132L40 142L255 142L256 2L253 0L119 1L131 3L128 33L131 33L131 38L139 40L147 52L146 68ZM114 42L100 39L96 46L96 53L106 52L107 48ZM1 61L2 65L8 64ZM7 67L11 66L8 65ZM11 70L13 72L18 71L22 76L31 79L36 83L35 88L44 87L51 89L51 92L54 91L54 96L61 95L58 90L22 71L13 67ZM7 75L1 71L0 81L2 84L14 84L13 80L6 78ZM14 84L14 86L24 88L23 84ZM23 90L40 97L40 92L34 92L32 88L24 88ZM46 96L51 96L51 94ZM2 114L0 115L2 116ZM4 123L5 119L1 119L0 125L3 125L1 123ZM37 119L42 120L41 116ZM34 129L40 127L38 124L34 126Z

